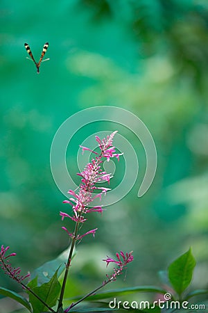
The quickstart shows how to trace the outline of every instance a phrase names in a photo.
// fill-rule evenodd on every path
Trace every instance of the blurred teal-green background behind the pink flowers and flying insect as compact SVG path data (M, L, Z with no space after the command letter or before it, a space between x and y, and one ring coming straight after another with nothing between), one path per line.
M119 278L109 288L158 284L157 271L189 246L198 262L193 287L207 287L207 1L1 0L0 16L0 241L17 252L14 265L26 273L67 248L61 230L67 223L59 211L69 208L49 159L58 127L80 110L118 106L150 130L156 176L148 193L137 198L145 154L125 127L97 122L75 135L67 165L76 182L78 145L103 129L118 129L132 143L139 176L123 200L103 216L89 216L86 231L98 232L78 246L68 294L102 282L101 260L119 250L133 250L135 261L125 281ZM38 60L47 41L50 61L37 74L24 42ZM121 174L122 162L116 163L112 186ZM20 290L3 273L0 284Z

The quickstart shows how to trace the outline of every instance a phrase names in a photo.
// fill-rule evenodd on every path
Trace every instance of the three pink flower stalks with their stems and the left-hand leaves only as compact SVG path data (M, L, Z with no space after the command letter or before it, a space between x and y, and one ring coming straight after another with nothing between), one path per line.
M107 257L103 259L106 262L107 266L110 263L115 264L113 269L113 273L111 275L106 275L105 280L103 280L102 284L99 287L96 287L93 291L90 291L87 295L80 297L75 303L71 303L68 307L63 308L64 306L64 291L67 284L67 278L69 273L69 268L71 266L71 261L73 257L73 251L76 246L76 243L80 242L84 236L88 234L92 234L95 236L96 230L98 228L94 228L93 230L89 230L85 232L85 234L80 234L81 226L88 218L89 213L92 212L103 212L102 206L93 206L92 202L95 198L100 198L102 195L106 194L110 188L99 187L96 185L98 182L107 182L110 184L110 179L112 175L103 171L101 167L103 160L107 159L109 161L111 158L116 157L119 160L119 157L122 154L116 153L115 147L112 145L113 138L116 134L116 131L112 132L110 136L106 138L99 138L96 136L96 141L98 143L98 147L100 149L100 153L94 152L90 150L88 147L82 147L83 152L85 150L89 150L92 154L95 154L94 158L85 166L83 172L78 173L78 176L81 177L81 183L79 186L79 190L76 191L69 190L68 193L70 195L69 200L64 200L64 203L69 204L72 208L72 214L60 212L60 216L62 220L64 218L69 218L74 222L73 231L69 231L67 227L63 226L62 229L67 232L69 239L71 239L71 245L69 248L69 255L67 258L67 262L64 266L59 264L58 269L50 273L50 279L42 280L36 275L28 284L24 281L26 278L30 277L30 273L27 275L21 275L21 269L19 267L14 268L10 262L10 257L15 256L15 253L10 253L6 255L9 247L1 246L0 252L0 265L3 269L4 273L6 273L10 278L21 284L21 287L29 294L29 300L24 298L23 296L19 296L19 294L15 294L13 291L8 289L0 288L0 293L4 296L9 296L17 300L19 303L24 305L26 309L33 313L40 312L57 312L57 313L67 313L74 309L79 303L88 298L89 296L95 295L96 292L103 288L106 284L113 282L116 280L118 275L121 275L123 272L123 268L127 266L128 263L132 262L133 256L132 252L124 253L121 251L120 253L116 252L116 259L112 257ZM95 193L98 191L98 193ZM90 205L92 205L90 207ZM62 268L64 269L64 278L62 280L62 285L58 278L62 273ZM52 275L53 274L53 275ZM84 309L83 309L84 310ZM87 310L89 312L89 310Z

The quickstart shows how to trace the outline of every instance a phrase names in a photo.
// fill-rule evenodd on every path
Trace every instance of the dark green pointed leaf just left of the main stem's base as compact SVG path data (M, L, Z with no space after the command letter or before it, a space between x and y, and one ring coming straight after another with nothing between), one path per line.
M49 305L49 307L53 307L56 304L60 294L60 282L58 281L57 275L58 270L55 272L49 282L32 289L35 294L37 294L37 296L39 296L47 305ZM28 294L30 302L33 306L33 313L40 313L44 310L48 310L47 307L42 302L40 302L40 300L31 294L31 292L28 292Z

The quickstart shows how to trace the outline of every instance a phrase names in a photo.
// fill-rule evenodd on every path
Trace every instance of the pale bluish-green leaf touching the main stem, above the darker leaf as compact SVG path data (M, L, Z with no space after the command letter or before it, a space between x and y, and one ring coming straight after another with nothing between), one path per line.
M69 248L64 250L56 259L53 259L49 262L44 263L42 266L38 267L31 273L31 279L37 277L37 285L40 286L46 282L49 282L53 277L54 273L58 268L58 277L62 274L64 269L66 268L65 263L67 262L67 258L69 255ZM73 257L75 252L73 253Z

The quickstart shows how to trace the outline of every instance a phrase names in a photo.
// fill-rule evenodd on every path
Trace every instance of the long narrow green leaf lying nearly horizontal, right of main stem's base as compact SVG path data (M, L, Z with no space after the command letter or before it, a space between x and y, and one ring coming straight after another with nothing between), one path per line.
M103 291L99 294L94 294L93 296L89 296L85 299L85 301L92 301L92 300L101 300L106 298L115 298L116 296L123 296L126 294L135 294L137 292L155 292L157 294L166 294L166 290L155 287L155 286L137 286L137 287L128 287L122 289L112 289L108 291ZM83 296L76 296L73 298L67 298L65 300L79 300L83 298Z

